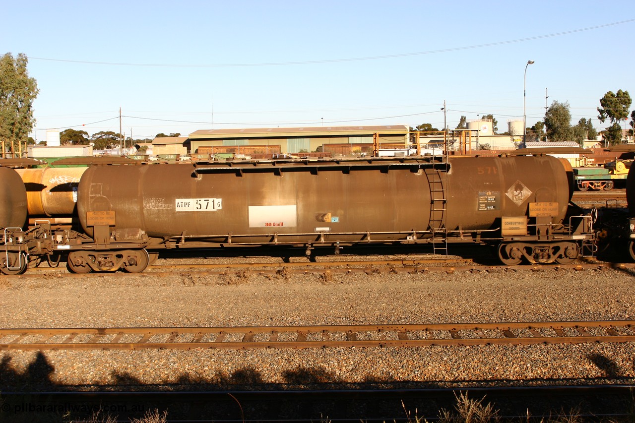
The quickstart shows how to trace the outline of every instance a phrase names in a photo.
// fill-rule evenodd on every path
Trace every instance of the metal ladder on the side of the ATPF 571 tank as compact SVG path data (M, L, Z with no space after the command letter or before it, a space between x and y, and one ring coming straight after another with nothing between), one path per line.
M432 252L434 255L448 255L448 229L446 227L447 198L446 182L448 162L433 164L425 170L430 186L430 221L428 230L432 234Z

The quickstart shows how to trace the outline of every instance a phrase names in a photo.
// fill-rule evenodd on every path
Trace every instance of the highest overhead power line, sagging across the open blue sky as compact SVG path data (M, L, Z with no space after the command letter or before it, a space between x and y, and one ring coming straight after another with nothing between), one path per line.
M338 62L358 62L361 60L377 60L384 58L395 58L395 57L408 57L408 56L418 56L418 55L430 55L434 53L446 53L448 51L458 51L458 50L470 50L472 48L483 48L483 47L491 47L498 46L501 44L511 44L511 43L521 43L523 41L531 41L534 39L541 38L549 38L549 37L558 37L566 34L573 34L575 32L583 32L592 29L599 29L610 27L613 25L621 25L628 24L629 22L634 22L635 18L622 20L620 22L612 22L611 24L604 25L596 25L594 27L587 27L581 29L572 29L563 32L554 32L553 34L545 34L540 36L533 37L525 37L512 39L507 41L497 41L494 43L485 43L485 44L474 44L471 46L462 46L462 47L454 47L454 48L443 48L439 50L428 50L428 51L418 51L416 53L402 53L402 54L394 54L394 55L384 55L384 56L370 56L370 57L354 57L354 58L342 58L342 59L328 59L328 60L307 60L305 62L272 62L272 63L249 63L249 64L217 64L217 65L192 65L192 64L141 64L141 63L120 63L120 62L90 62L87 60L66 60L66 59L57 59L57 58L44 58L44 57L29 57L29 60L48 60L50 62L66 62L66 63L76 63L76 64L89 64L89 65L112 65L112 66L140 66L140 67L251 67L251 66L286 66L286 65L312 65L312 64L325 64L325 63L338 63Z

